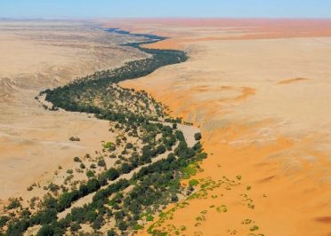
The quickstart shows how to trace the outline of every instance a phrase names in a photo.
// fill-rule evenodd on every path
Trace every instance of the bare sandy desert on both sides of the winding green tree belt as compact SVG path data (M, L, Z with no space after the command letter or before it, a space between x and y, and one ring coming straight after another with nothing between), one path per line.
M44 111L34 97L146 57L118 46L132 39L101 30L114 27L165 35L148 46L187 51L187 62L120 85L148 91L200 128L208 158L192 178L233 180L149 225L185 235L331 234L331 20L1 22L2 201L109 137L107 122Z

